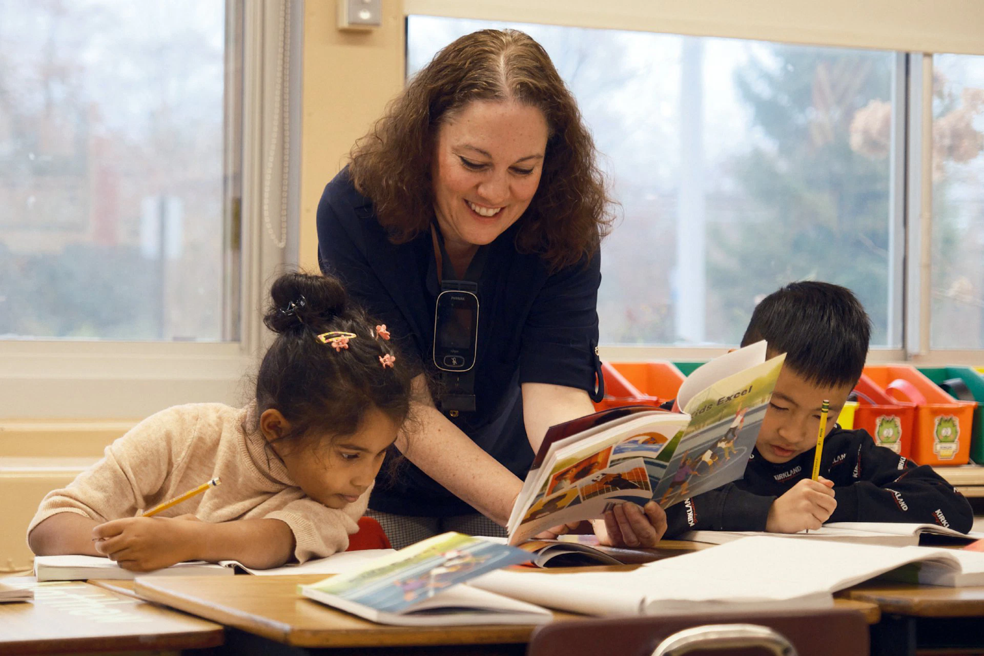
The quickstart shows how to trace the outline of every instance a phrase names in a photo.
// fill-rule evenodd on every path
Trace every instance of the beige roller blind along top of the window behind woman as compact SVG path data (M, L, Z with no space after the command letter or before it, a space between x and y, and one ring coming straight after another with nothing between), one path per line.
M981 0L403 0L407 14L984 53Z

